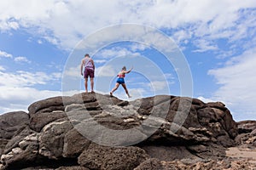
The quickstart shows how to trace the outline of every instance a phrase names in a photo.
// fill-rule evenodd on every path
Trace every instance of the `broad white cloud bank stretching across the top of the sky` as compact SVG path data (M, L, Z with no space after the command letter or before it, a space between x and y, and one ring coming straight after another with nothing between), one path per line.
M134 0L129 3L120 0L26 0L22 3L9 0L8 3L0 3L0 29L7 31L26 27L62 48L73 48L90 32L120 23L188 29L178 31L177 41L190 37L214 39L236 36L236 39L241 39L247 35L247 28L253 28L252 23L255 23L254 15L244 17L242 13L245 10L242 9L255 7L256 3L251 0L199 0L196 3L188 0Z

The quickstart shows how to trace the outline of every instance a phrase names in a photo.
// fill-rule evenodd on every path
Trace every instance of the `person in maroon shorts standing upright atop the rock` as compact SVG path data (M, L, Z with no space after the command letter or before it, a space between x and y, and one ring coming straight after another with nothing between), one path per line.
M84 72L83 72L84 68ZM95 65L93 59L90 59L89 54L84 55L84 59L81 61L81 75L84 76L84 87L85 87L85 93L88 93L88 77L90 77L90 88L91 93L94 93L93 86L94 86L94 71L95 71Z

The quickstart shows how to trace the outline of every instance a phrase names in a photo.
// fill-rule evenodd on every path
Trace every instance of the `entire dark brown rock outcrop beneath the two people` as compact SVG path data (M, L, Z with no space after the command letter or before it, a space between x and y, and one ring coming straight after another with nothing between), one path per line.
M37 101L28 111L0 116L0 169L253 167L225 149L253 147L256 123L236 123L221 102L82 93Z

